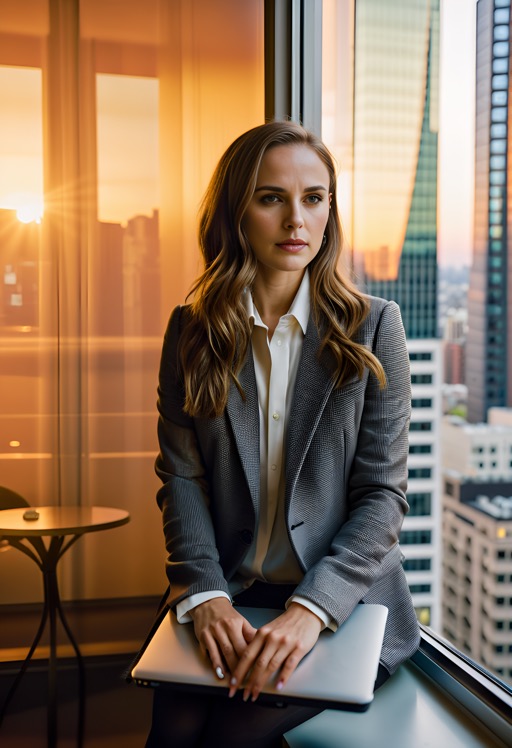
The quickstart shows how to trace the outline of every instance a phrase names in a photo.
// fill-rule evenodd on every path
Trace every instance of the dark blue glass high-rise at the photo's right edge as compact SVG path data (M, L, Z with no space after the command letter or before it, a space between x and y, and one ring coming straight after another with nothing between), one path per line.
M510 0L479 0L476 39L474 251L466 346L468 420L512 405L512 242L507 204Z

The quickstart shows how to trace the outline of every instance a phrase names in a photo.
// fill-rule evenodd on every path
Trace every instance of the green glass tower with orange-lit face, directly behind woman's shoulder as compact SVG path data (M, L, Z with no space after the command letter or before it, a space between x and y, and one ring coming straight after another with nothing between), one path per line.
M439 0L355 7L357 267L408 338L435 338Z

